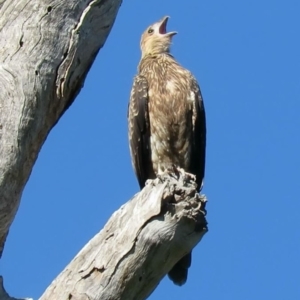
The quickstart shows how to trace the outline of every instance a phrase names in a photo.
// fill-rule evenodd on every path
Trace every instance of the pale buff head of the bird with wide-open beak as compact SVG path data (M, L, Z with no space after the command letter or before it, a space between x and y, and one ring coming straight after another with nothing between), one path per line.
M177 32L167 32L168 19L163 17L145 30L141 38L142 57L170 52L172 37Z

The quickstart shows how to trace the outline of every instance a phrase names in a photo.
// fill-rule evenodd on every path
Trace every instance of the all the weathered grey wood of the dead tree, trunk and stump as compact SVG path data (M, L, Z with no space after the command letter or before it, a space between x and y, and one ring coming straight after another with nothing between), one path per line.
M120 5L0 0L0 256L41 146L83 86ZM151 181L41 299L145 299L206 232L204 204L184 174ZM15 298L0 277L3 299Z

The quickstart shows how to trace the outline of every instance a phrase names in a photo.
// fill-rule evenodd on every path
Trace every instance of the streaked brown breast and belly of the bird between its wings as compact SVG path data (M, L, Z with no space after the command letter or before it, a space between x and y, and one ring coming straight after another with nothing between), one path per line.
M176 165L188 171L192 105L183 80L161 80L149 89L150 146L156 173Z

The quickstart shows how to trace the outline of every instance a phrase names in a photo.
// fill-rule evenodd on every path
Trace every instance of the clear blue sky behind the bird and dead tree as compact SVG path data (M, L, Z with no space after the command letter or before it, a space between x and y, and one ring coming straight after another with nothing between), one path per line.
M150 299L300 299L299 11L299 0L124 1L25 188L1 262L7 290L38 298L138 191L128 97L142 31L170 15L173 54L206 106L209 232L187 284L165 278Z

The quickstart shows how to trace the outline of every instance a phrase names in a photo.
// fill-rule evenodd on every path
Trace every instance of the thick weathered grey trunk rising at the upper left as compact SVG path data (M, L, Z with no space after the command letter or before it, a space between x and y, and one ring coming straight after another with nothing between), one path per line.
M80 91L120 5L0 0L0 256L38 152Z

